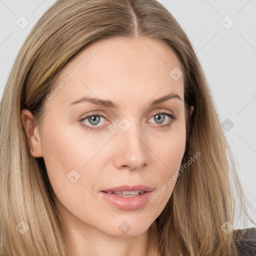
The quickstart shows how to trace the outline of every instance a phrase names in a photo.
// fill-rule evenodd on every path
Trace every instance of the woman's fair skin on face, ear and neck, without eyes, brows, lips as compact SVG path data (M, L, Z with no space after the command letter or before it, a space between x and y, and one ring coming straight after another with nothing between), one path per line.
M44 159L72 255L158 255L148 241L155 238L155 219L176 181L154 202L135 210L114 207L99 191L120 184L145 184L155 194L178 170L185 151L183 76L174 80L169 72L181 67L174 52L155 39L109 38L75 55L61 70L53 89L94 48L99 52L46 101L39 123L33 124L31 112L22 110L27 139L35 149L30 153ZM149 107L152 100L171 92L181 100L172 98ZM82 96L108 99L119 108L89 102L68 106ZM157 123L154 116L163 110L176 119L164 115ZM78 121L92 111L105 115L94 124L100 129L85 129ZM123 118L131 123L125 132L118 127ZM169 127L159 127L169 121ZM83 123L93 127L88 118ZM72 169L80 174L74 183L67 178ZM123 221L130 226L127 233L118 228Z

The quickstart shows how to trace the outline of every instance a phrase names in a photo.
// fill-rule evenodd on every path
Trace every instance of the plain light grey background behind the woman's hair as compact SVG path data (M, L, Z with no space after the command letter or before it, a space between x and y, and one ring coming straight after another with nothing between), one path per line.
M54 2L0 0L0 95L28 32ZM159 2L184 29L202 65L251 212L256 209L256 0ZM29 24L20 29L15 22L24 25L22 15ZM255 213L251 216L256 221Z

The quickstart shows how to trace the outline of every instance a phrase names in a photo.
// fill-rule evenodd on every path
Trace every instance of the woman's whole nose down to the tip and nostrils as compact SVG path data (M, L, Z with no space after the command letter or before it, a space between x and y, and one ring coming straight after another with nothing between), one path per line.
M114 166L118 169L139 170L146 164L148 152L145 136L134 125L127 130L118 130L115 136Z

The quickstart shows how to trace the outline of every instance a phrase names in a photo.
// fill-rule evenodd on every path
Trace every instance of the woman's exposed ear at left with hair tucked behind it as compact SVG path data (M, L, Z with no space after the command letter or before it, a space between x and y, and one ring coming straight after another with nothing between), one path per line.
M24 127L24 130L26 132L31 155L33 157L42 157L42 147L41 147L39 126L38 124L36 124L32 113L27 109L22 109L21 120L22 120L22 125ZM32 151L32 149L35 149L35 150Z

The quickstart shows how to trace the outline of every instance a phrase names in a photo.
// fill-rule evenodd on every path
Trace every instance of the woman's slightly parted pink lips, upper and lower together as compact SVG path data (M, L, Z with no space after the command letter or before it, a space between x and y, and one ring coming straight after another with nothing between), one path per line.
M139 194L132 197L122 197L119 195L114 195L107 193L108 191L136 191L143 190L143 194ZM133 210L142 207L147 201L149 196L152 193L153 188L145 185L120 185L112 188L104 189L100 191L101 196L106 199L113 206L124 209L124 210Z

